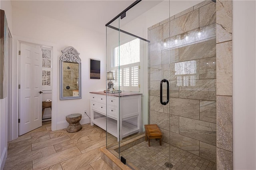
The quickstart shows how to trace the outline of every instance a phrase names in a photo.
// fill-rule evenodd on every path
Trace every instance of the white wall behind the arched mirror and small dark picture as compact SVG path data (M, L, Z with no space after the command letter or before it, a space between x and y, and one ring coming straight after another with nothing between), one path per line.
M53 81L57 81L57 87L53 87L53 96L56 97L57 113L52 112L52 116L57 115L57 126L52 130L66 128L66 115L71 113L82 113L81 123L89 123L88 117L84 116L84 110L90 112L90 91L103 91L105 89L105 35L91 32L84 28L74 26L72 23L60 22L52 18L32 14L16 7L12 9L13 34L16 36L40 40L55 44L56 53L53 54L53 72L58 72ZM15 43L15 42L14 42ZM47 44L45 44L47 45ZM82 99L59 100L59 57L61 50L73 46L80 53L82 60ZM15 57L15 56L14 56ZM101 60L101 79L90 79L90 58ZM54 94L54 88L56 94ZM54 98L52 107L54 107ZM53 109L54 110L54 109Z

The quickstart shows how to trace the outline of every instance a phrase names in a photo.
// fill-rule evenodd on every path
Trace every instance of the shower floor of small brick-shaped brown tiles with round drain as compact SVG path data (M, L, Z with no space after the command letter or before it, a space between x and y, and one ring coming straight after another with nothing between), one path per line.
M140 142L120 155L140 170L168 170L166 162L173 165L172 170L216 170L216 163L171 145L169 148L165 142L160 146L158 140L150 140L150 147L148 142Z

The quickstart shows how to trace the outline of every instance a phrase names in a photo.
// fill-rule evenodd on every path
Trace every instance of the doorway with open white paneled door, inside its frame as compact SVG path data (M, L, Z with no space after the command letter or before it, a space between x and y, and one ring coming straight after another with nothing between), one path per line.
M51 102L51 73L52 47L19 43L19 136L41 127L43 118L51 118L50 108L44 109L44 117L42 113L42 102Z

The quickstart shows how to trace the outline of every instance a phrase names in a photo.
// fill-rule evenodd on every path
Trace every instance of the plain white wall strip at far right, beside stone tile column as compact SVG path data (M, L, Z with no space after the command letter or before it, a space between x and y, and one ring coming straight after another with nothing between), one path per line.
M256 169L256 1L233 1L234 169Z

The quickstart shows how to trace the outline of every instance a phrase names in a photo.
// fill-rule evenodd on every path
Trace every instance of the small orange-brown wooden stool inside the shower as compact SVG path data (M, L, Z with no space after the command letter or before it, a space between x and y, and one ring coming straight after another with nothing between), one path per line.
M148 140L148 147L150 147L150 139L159 139L159 144L162 146L162 132L156 124L144 125L145 127L145 140Z

